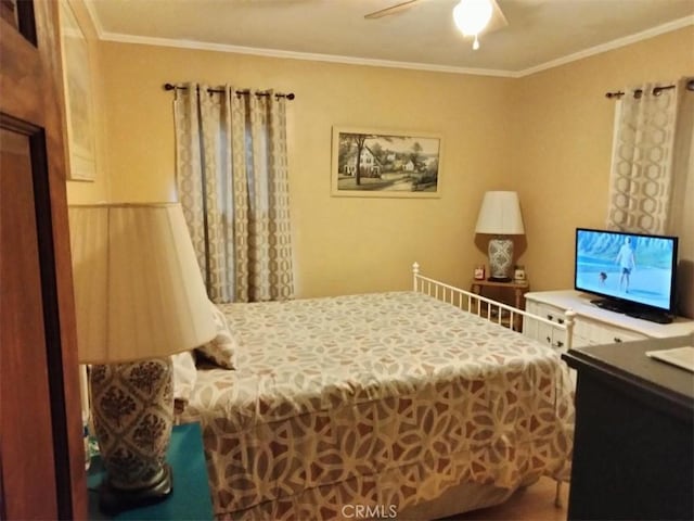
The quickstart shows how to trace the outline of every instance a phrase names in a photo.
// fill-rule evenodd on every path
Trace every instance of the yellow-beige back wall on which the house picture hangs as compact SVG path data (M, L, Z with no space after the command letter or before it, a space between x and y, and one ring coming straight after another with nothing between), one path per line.
M513 79L120 43L104 43L103 56L114 200L175 198L174 94L164 82L272 87L296 93L288 150L298 295L402 289L413 260L466 283L484 259L473 227L484 191L510 182ZM332 198L333 125L442 135L442 196Z

